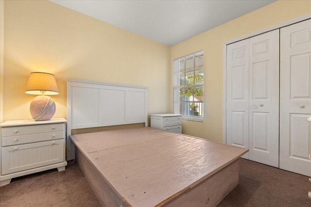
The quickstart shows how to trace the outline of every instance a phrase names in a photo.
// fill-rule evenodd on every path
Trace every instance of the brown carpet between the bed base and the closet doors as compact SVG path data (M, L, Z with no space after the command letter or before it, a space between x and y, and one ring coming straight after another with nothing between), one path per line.
M311 207L309 191L307 176L241 158L239 185L217 207Z

